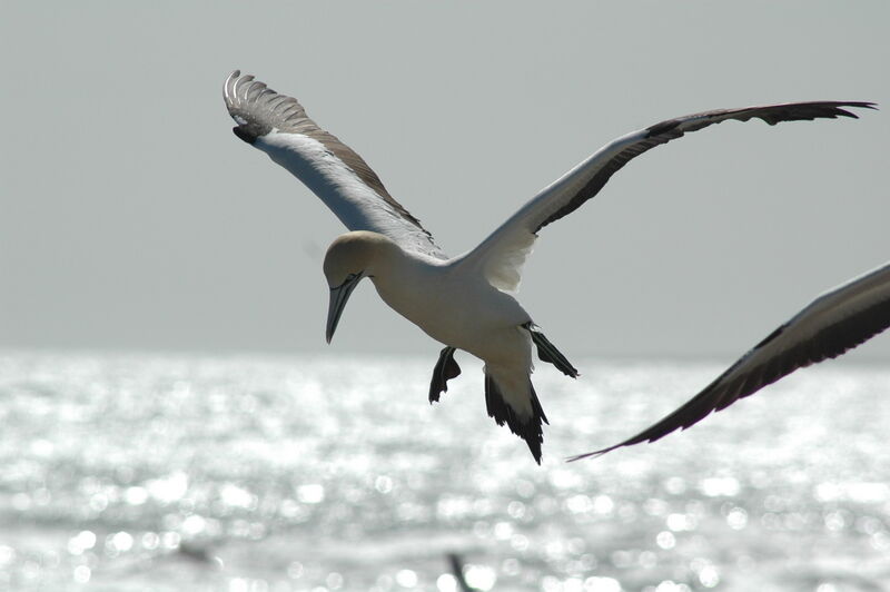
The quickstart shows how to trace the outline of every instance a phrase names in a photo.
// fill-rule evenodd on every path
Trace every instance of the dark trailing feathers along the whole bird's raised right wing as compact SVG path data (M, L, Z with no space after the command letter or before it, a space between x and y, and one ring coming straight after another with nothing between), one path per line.
M844 107L877 109L877 103L868 101L810 101L768 105L762 107L743 107L741 109L715 109L668 119L666 121L650 126L645 128L645 135L612 156L612 158L581 187L574 197L542 220L533 233L537 234L544 226L580 208L585 201L600 193L609 179L612 178L612 175L621 170L624 165L637 156L656 146L668 144L676 138L682 138L688 131L698 131L728 119L748 121L749 119L758 118L771 126L782 121L811 121L814 119L837 119L838 117L859 119L859 116L852 111L848 111Z

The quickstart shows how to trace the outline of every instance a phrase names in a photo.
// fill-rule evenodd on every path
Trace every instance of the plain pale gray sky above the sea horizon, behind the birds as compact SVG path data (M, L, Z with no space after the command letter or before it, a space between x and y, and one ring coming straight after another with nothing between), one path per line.
M890 258L890 3L739 7L3 2L0 346L327 347L320 262L344 228L231 134L235 68L297 97L454 255L633 129L882 103L689 136L542 231L521 300L570 357L733 357ZM366 283L334 347L439 346Z

